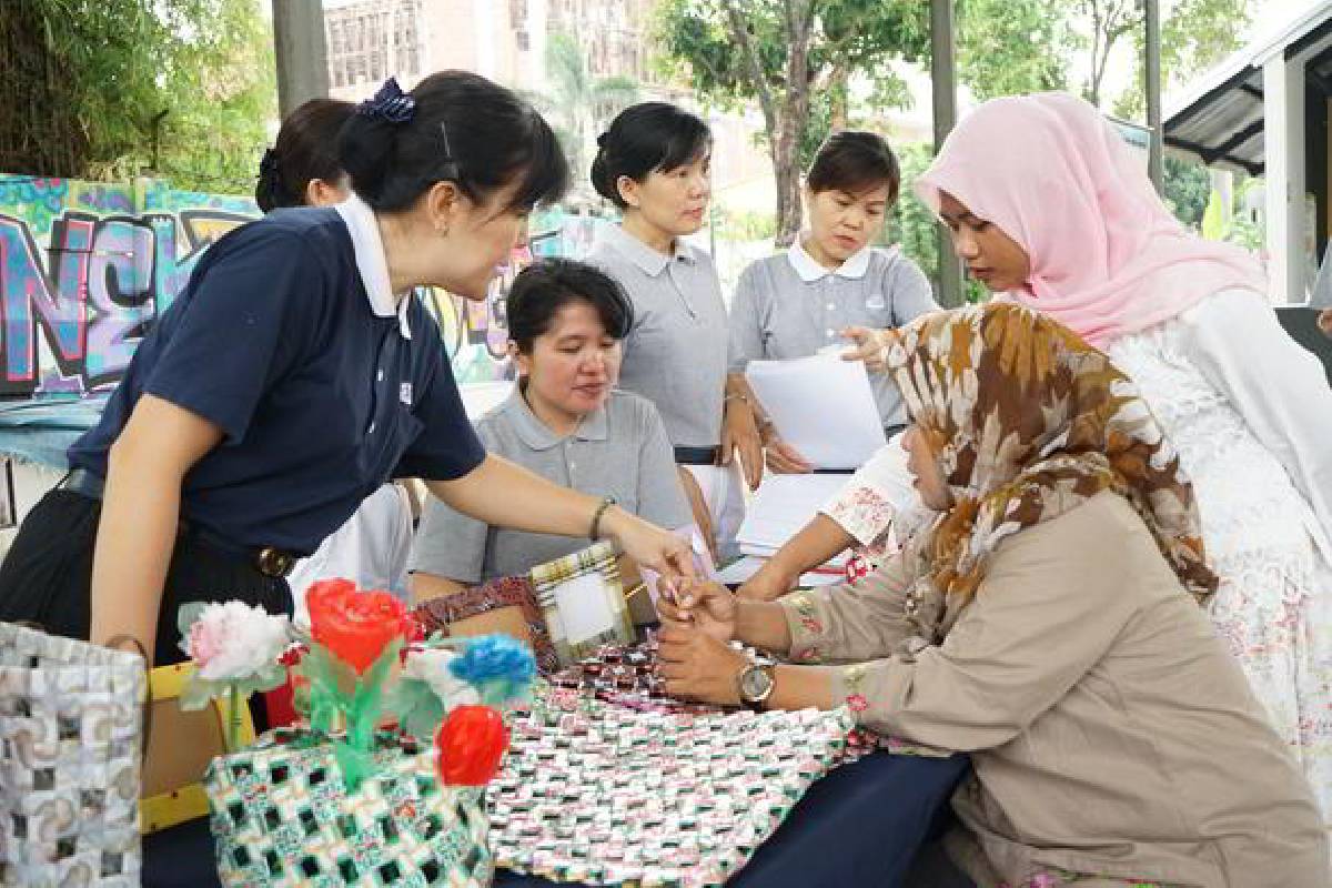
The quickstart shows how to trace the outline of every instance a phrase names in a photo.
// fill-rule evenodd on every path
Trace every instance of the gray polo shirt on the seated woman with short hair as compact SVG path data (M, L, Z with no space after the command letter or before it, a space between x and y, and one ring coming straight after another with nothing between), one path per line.
M477 423L486 450L563 487L611 495L627 511L661 527L694 521L679 485L661 417L646 399L611 391L606 406L559 438L513 394ZM412 546L412 570L478 583L526 574L590 543L574 537L492 527L429 497Z

